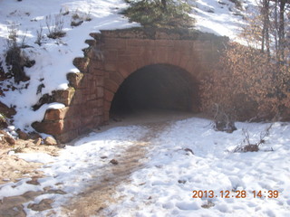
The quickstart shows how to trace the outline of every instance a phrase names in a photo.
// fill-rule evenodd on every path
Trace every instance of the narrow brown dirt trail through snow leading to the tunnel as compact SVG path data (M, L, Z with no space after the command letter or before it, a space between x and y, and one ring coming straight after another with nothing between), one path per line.
M158 137L168 125L168 122L146 124L145 126L150 129L149 132L136 144L125 149L121 156L116 156L111 161L111 165L102 170L102 175L97 182L90 184L90 187L63 208L63 215L72 217L105 216L102 214L102 210L107 204L117 203L114 198L117 186L131 181L130 175L146 162L147 148L152 145L151 140Z

